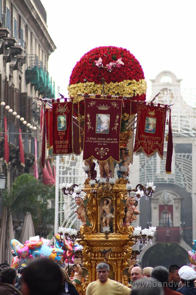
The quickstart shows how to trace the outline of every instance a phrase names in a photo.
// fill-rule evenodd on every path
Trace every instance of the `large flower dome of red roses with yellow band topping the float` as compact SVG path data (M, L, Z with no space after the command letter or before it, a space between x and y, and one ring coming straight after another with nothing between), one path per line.
M74 104L81 100L78 93L103 94L102 78L106 95L130 96L137 101L146 99L144 72L134 55L120 47L101 46L83 55L73 68L67 89ZM81 108L82 104L80 101ZM130 112L130 99L124 101L124 120L136 111L136 103L132 103Z

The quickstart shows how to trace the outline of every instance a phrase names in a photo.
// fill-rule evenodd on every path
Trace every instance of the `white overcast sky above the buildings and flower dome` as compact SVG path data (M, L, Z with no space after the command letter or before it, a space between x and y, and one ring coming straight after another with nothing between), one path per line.
M183 79L183 88L196 88L195 0L41 1L57 47L49 59L56 86L67 87L76 62L90 49L113 45L139 60L148 95L149 79L164 70Z

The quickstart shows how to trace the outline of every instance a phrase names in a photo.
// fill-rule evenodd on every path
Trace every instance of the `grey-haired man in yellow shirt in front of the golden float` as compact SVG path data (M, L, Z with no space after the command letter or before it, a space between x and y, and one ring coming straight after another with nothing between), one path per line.
M97 265L98 280L88 285L86 289L86 295L100 295L100 294L112 294L112 295L129 295L131 289L123 284L110 280L108 278L109 266L107 263L101 262Z

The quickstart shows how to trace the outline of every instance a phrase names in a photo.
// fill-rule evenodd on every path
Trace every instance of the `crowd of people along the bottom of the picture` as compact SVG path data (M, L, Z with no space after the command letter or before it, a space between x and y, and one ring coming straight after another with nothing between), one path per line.
M67 270L48 258L38 258L20 267L18 273L8 263L1 263L0 295L79 295ZM98 279L88 285L86 295L196 295L196 272L189 266L172 264L168 270L164 266L130 266L131 288L108 278L107 263L99 263L96 270Z

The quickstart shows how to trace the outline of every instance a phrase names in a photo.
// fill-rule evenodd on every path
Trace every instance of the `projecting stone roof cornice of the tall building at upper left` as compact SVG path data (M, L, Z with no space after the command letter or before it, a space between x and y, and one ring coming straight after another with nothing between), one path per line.
M22 17L27 19L27 24L34 29L34 32L37 32L38 36L40 34L42 37L40 38L40 43L47 48L48 54L50 55L50 53L55 51L56 46L47 31L47 26L43 23L32 2L30 0L15 0L14 5L18 6L21 12L23 12Z

